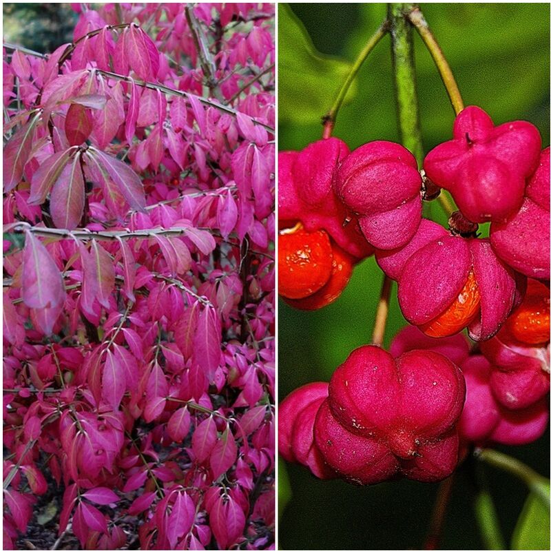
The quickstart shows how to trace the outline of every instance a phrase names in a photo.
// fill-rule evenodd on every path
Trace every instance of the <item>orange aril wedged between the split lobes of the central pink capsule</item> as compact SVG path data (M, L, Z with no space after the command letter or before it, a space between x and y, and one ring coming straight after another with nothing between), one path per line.
M480 306L475 273L470 271L457 298L434 320L419 327L429 337L449 337L459 333L475 319Z

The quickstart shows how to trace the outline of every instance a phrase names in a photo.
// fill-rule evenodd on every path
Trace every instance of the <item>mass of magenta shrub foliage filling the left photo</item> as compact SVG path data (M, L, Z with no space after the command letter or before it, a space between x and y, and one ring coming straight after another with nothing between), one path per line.
M273 4L74 7L4 52L5 545L49 479L83 548L267 548Z

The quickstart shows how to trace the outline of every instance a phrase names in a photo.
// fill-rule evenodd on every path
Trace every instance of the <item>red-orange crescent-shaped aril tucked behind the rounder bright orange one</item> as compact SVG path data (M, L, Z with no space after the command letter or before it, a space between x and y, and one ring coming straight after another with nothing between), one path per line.
M339 298L340 293L350 281L355 258L333 243L333 267L331 278L318 292L298 300L286 299L285 302L300 310L319 310Z

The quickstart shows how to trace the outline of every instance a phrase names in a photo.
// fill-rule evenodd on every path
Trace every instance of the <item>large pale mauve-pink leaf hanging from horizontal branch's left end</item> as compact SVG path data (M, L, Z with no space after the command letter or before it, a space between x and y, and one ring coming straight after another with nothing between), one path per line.
M63 280L42 243L28 231L23 249L23 302L30 308L50 308L65 301Z

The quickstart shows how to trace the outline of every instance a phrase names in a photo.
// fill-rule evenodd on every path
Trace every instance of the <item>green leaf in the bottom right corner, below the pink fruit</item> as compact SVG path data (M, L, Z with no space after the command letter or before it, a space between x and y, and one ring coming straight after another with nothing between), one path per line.
M549 495L549 481L542 483L542 486ZM514 528L511 549L549 549L549 531L549 508L541 497L530 492Z

